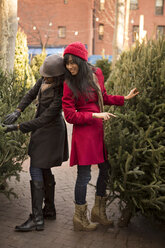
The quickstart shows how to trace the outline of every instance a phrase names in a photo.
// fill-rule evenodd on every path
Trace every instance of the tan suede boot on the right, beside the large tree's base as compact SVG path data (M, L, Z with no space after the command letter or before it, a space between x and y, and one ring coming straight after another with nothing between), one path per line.
M95 205L91 212L91 221L98 222L103 226L113 226L113 221L107 219L106 215L107 197L95 196Z

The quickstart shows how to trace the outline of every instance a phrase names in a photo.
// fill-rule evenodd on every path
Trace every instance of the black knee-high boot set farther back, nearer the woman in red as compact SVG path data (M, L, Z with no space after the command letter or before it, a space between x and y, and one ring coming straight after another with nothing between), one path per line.
M45 191L45 206L43 208L43 215L45 219L55 220L56 219L56 209L54 204L55 198L55 180L54 176L51 174L44 177L44 191Z

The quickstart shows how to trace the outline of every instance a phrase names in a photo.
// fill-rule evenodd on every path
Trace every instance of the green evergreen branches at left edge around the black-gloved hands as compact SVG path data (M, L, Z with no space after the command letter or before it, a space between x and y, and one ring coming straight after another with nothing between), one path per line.
M3 123L6 114L11 113L25 93L26 84L19 87L13 75L0 72L0 120ZM19 123L27 120L34 113L31 107L30 115L27 111L22 114ZM0 192L9 196L15 195L13 189L8 189L8 180L12 176L19 180L22 162L26 158L29 135L21 132L4 133L0 128Z

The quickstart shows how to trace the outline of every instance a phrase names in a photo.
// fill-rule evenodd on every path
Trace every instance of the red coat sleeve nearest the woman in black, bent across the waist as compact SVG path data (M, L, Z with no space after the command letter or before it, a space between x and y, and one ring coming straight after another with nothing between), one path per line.
M65 119L71 124L89 124L92 122L92 112L77 112L75 98L72 91L66 83L64 83L64 91L62 97L62 108L64 111Z

